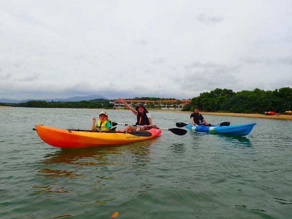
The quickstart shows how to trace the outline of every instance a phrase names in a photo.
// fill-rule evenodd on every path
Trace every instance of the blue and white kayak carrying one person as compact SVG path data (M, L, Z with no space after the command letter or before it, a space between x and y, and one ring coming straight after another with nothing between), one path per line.
M210 132L210 133L219 133L219 134L232 134L232 135L248 135L256 123L249 123L243 125L235 126L194 126L192 124L186 125L185 128L189 128L194 131L200 132Z

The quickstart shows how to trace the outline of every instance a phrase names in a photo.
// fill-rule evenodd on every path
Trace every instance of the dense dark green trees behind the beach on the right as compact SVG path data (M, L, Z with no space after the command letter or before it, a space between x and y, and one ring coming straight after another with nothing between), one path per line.
M198 106L202 111L263 113L264 111L285 112L292 110L292 89L280 88L274 91L263 91L256 88L253 91L234 92L228 89L215 89L200 93L184 106L184 111L193 111Z

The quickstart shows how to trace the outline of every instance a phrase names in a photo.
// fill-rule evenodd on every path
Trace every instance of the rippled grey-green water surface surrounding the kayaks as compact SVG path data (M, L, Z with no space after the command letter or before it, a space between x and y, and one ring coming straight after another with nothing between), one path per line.
M154 140L83 149L49 146L32 130L90 129L100 111L0 108L0 218L292 218L292 121L205 115L257 125L246 137L164 130ZM131 111L107 111L135 123ZM150 113L162 128L190 121Z

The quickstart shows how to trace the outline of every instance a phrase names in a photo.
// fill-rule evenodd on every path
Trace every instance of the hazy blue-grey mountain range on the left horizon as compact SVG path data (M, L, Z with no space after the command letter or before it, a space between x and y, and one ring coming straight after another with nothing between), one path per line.
M69 98L52 98L52 99L27 99L27 100L13 100L13 99L3 98L3 99L0 99L0 103L26 103L32 100L44 100L46 102L52 102L52 101L77 102L77 101L82 101L82 100L95 100L95 99L107 99L107 98L101 95L73 96Z

